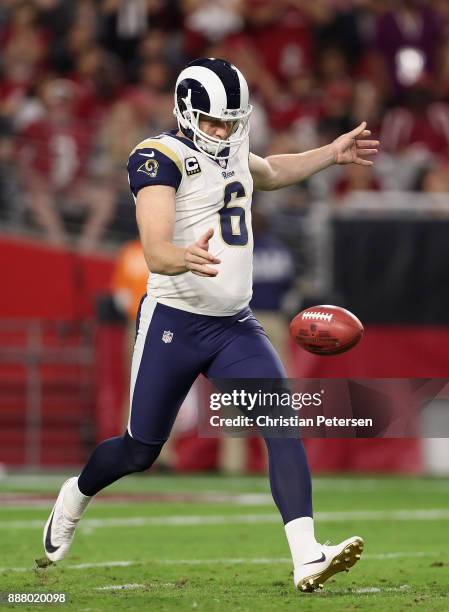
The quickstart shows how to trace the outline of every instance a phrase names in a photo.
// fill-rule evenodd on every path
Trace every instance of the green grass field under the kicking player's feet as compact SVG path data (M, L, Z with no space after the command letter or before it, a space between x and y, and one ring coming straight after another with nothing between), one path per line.
M90 506L67 559L38 569L63 478L0 481L0 592L65 592L68 603L54 606L78 612L449 610L448 479L315 478L317 537L361 535L365 551L304 595L262 477L123 479Z

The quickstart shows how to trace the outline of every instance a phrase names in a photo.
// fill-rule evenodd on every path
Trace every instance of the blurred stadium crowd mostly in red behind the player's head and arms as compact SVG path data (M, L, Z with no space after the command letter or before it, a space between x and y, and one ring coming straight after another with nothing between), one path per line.
M85 250L134 236L128 154L175 127L176 75L203 55L246 75L258 154L362 120L380 136L374 171L332 168L259 196L281 237L316 199L447 192L448 33L446 0L3 0L1 225Z

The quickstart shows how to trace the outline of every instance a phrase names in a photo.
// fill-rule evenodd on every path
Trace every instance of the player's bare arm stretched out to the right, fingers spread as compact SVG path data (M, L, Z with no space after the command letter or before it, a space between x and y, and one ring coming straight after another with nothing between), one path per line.
M342 134L319 149L265 158L250 153L249 169L254 189L272 191L293 185L333 164L371 166L372 160L366 158L378 153L380 143L378 140L368 140L370 135L366 121L363 121L351 132Z

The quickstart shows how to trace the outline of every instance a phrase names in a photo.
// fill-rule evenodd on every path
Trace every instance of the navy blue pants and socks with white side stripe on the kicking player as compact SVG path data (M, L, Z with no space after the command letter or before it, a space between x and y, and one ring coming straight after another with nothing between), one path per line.
M94 495L152 465L199 374L215 380L286 378L250 308L213 317L145 296L137 317L127 433L94 450L78 481L82 493ZM265 442L271 491L284 522L312 516L310 472L301 440L267 437Z

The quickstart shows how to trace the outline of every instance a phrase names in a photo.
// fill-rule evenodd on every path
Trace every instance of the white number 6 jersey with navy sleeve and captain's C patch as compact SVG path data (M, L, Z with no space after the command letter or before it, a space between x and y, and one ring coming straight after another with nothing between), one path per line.
M248 157L248 139L229 160L215 161L176 132L148 138L131 153L128 174L134 198L148 185L175 187L173 244L187 247L212 228L209 251L221 260L215 277L152 273L148 294L158 302L213 316L234 315L248 305L253 254Z

